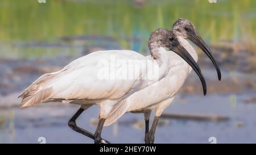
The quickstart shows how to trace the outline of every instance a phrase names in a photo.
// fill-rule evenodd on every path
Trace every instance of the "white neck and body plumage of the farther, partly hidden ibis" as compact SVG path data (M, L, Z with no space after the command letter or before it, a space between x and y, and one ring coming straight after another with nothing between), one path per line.
M179 37L179 42L197 62L197 53L192 45L183 37ZM171 104L174 95L192 71L191 66L176 53L169 52L168 58L171 68L167 76L154 83L154 85L147 86L123 99L120 103L123 108L111 112L104 125L112 124L125 112L144 113L155 109L155 116L162 114L163 110Z

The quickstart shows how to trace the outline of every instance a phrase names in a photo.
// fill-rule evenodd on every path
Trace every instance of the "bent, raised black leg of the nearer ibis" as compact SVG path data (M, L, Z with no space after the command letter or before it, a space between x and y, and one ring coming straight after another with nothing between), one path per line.
M77 127L76 125L76 119L82 114L82 112L84 111L84 109L80 108L76 114L69 120L68 122L68 126L71 127L73 130L75 130L76 132L79 132L81 133L82 135L85 135L87 137L90 137L91 139L94 140L94 135L93 133L89 132L89 131L86 131L85 129L82 129L80 127ZM101 139L100 140L100 143L109 143L109 141L107 140L104 140L104 139Z

